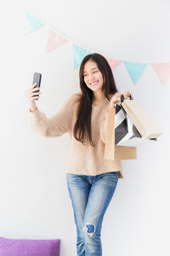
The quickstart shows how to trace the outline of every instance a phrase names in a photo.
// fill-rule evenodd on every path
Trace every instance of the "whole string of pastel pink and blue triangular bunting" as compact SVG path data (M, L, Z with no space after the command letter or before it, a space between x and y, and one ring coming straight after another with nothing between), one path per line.
M26 36L31 32L37 31L42 26L48 26L48 24L45 24L42 21L42 19L39 19L36 16L37 15L32 15L30 12L26 13L26 20L29 26L26 27L26 30L25 30L26 32L24 36ZM59 48L59 46L67 42L71 42L72 44L74 68L77 68L80 66L84 56L88 54L93 54L93 51L80 47L79 45L75 44L73 40L71 40L70 38L63 36L60 32L48 26L48 39L47 39L47 46L46 46L47 53L49 51ZM119 64L119 62L121 62L121 60L115 60L109 56L105 56L105 59L109 62L111 70L114 70ZM167 83L167 79L170 76L170 62L164 62L164 63L139 63L139 62L129 62L129 61L122 61L122 62L124 62L125 67L127 68L127 72L130 78L132 79L132 82L134 85L138 83L147 65L151 65L153 67L161 83L164 85Z

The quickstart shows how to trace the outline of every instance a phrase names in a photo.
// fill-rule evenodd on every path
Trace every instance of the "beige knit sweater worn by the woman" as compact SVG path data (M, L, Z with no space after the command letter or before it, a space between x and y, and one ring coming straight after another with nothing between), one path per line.
M51 118L47 118L38 108L35 112L29 112L29 119L33 131L43 137L59 137L69 132L71 148L66 172L83 175L99 175L105 172L120 171L122 175L121 160L105 160L105 131L109 114L110 102L105 100L99 105L92 105L91 131L95 147L90 143L84 145L73 137L73 128L77 120L77 107L80 93L71 95L62 108Z

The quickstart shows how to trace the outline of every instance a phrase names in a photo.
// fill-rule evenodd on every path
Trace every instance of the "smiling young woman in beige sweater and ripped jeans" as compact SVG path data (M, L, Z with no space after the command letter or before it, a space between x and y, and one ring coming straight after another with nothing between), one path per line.
M102 221L122 177L121 161L104 159L106 123L109 109L130 92L116 90L108 61L97 53L84 57L79 79L81 92L71 95L50 119L36 106L36 84L26 91L26 98L34 131L45 137L70 134L66 180L77 227L77 255L101 256Z

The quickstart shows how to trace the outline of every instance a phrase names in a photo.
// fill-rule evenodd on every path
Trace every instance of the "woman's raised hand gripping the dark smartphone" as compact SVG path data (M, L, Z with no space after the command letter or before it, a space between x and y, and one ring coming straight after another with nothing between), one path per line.
M31 87L28 90L26 90L26 99L32 111L34 111L37 108L35 99L39 99L39 95L41 94L41 92L39 91L35 92L36 90L40 90L39 87L35 87L36 84L37 83L32 84Z

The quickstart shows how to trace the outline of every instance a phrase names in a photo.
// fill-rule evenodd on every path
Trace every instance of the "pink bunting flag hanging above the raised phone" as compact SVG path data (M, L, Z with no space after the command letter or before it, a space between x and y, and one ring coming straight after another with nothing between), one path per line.
M59 47L61 44L65 44L67 40L59 36L58 33L54 32L51 29L48 29L48 44L46 52L53 50Z

